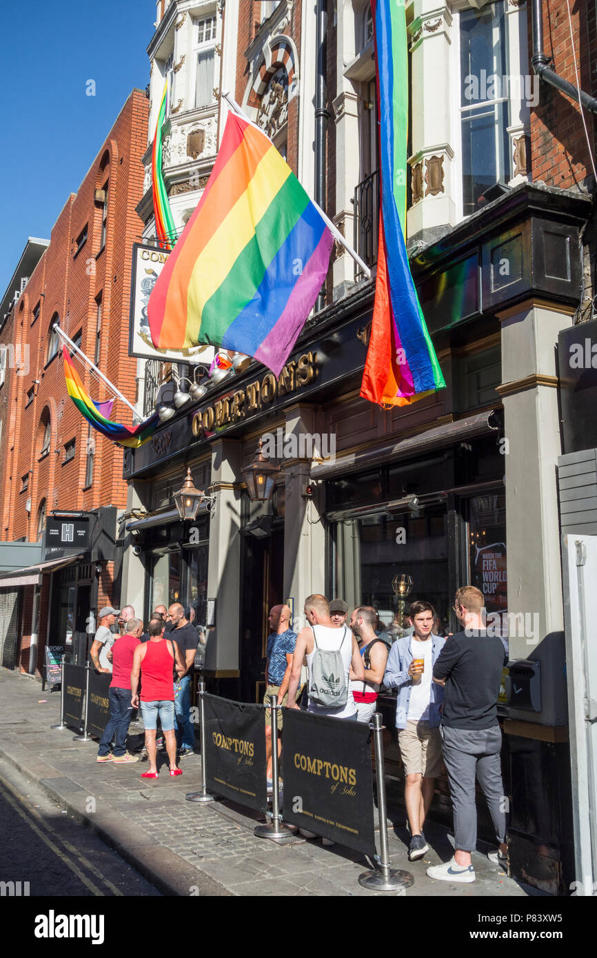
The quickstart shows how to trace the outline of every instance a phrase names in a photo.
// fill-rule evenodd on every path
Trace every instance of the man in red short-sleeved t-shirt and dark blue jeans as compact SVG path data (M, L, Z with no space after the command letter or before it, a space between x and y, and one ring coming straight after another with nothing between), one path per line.
M140 644L143 623L140 619L126 621L126 635L117 637L112 647L112 681L108 692L110 718L103 729L98 750L98 762L116 762L132 764L138 762L136 755L126 751L126 735L131 719L130 673L135 649ZM110 742L114 736L114 751L110 752Z

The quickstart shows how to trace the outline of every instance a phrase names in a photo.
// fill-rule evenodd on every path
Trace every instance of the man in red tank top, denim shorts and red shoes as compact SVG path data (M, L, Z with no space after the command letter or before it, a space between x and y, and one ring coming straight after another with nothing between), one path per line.
M176 767L176 737L174 735L174 691L172 670L181 675L186 671L180 650L170 636L164 638L164 622L161 619L149 620L149 642L137 646L130 673L132 706L139 705L139 674L142 675L141 714L145 725L145 744L148 750L149 769L142 778L157 778L155 762L155 728L157 717L162 722L166 741L166 751L170 760L170 774L182 775Z

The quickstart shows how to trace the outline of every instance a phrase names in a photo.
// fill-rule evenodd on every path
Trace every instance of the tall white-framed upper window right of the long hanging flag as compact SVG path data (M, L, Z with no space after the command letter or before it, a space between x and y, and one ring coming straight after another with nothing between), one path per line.
M511 176L504 3L460 13L463 215Z

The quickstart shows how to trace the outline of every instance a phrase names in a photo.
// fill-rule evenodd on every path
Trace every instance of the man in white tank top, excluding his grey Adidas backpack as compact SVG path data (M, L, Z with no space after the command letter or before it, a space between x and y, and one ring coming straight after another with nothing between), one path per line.
M292 671L290 672L290 682L288 684L288 708L297 709L299 706L294 701L296 690L301 680L301 669L303 661L307 659L307 671L309 673L309 686L311 680L311 661L315 651L314 635L317 636L317 646L320 649L340 651L346 669L346 684L349 686L346 705L340 708L331 708L329 706L316 705L309 702L309 712L316 715L333 716L335 719L356 719L356 705L353 693L349 685L349 673L351 666L356 679L361 681L365 677L365 667L356 645L356 638L351 630L342 626L340 628L333 625L330 618L330 603L325 596L312 595L305 600L305 617L310 623L309 626L302 628L296 640L296 648L292 656ZM314 630L314 631L313 631Z

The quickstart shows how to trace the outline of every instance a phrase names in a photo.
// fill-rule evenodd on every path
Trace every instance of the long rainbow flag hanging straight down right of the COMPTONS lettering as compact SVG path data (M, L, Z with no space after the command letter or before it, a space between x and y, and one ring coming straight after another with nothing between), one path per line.
M404 405L446 386L427 330L404 244L408 60L406 14L373 0L377 60L380 208L378 274L360 395Z

